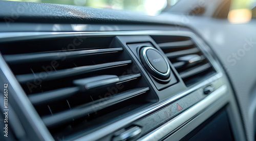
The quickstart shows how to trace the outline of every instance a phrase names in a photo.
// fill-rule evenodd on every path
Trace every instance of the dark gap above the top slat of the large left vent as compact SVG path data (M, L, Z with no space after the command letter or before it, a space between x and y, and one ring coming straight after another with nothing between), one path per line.
M83 49L108 48L114 37L72 37L43 40L8 42L1 47L3 54L34 52L74 51Z

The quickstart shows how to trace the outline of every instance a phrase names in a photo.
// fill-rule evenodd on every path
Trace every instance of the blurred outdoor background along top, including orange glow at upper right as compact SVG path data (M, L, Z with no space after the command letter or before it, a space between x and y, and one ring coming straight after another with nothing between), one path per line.
M137 11L156 16L161 11L171 9L182 0L7 0L17 2L52 3L94 8ZM214 1L214 0L202 0ZM225 0L224 0L225 1ZM233 23L244 23L256 17L256 0L231 0L228 20Z

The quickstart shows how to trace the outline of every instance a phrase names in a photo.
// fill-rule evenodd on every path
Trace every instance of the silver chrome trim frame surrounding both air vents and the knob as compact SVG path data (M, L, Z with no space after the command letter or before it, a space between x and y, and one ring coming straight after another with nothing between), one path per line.
M201 40L198 39L198 37L190 32L190 31L166 31L166 30L149 30L149 31L117 31L117 32L10 32L10 33L0 33L0 42L5 41L18 41L18 40L30 40L30 39L44 39L44 38L61 38L61 37L84 37L84 36L122 36L122 35L167 35L167 36L187 36L193 39L193 41L198 45L198 47L201 49L201 51L204 53L204 55L207 57L209 62L217 71L217 74L210 77L207 80L204 80L202 82L199 82L195 84L194 86L190 86L189 89L185 92L179 93L173 97L170 97L164 101L161 101L159 103L156 103L155 105L152 105L148 107L147 109L144 109L142 111L137 112L134 115L131 115L130 117L124 118L120 121L115 122L114 124L111 124L109 126L103 127L97 131L94 131L88 135L84 135L76 140L97 140L101 137L108 135L112 132L114 132L118 128L122 128L123 126L140 119L148 114L151 114L152 112L164 107L165 105L172 103L173 101L193 92L197 89L205 86L206 84L215 81L223 76L223 73L217 64L217 62L214 60L214 58L211 57L211 54L207 51L206 48L207 45L205 45ZM0 55L1 56L1 55ZM4 65L4 67L3 67ZM22 103L25 103L25 105L32 108L30 114L32 114L32 117L36 117L35 120L33 120L34 124L37 124L36 126L41 126L40 132L44 137L49 137L49 131L47 130L46 126L42 124L42 120L39 118L37 112L30 104L30 101L28 102L28 98L24 97L26 94L24 93L23 89L19 86L17 80L15 79L14 75L11 73L10 69L8 68L7 64L3 60L2 56L0 57L0 69L5 71L5 75L8 78L9 81L12 81L15 83L15 88L17 88L16 93L17 95L20 95ZM27 103L28 102L28 103ZM51 137L51 135L50 135ZM45 140L52 140L51 139L45 139Z

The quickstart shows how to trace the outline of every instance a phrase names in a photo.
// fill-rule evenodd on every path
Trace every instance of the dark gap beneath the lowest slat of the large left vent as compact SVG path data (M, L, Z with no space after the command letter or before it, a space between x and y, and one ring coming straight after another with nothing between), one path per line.
M114 123L115 121L113 121L113 119L120 120L123 117L131 115L134 111L150 106L151 103L141 102L140 100L143 99L145 95L146 94L142 94L140 96L110 106L106 109L99 110L97 113L90 114L90 116L77 119L69 125L62 126L61 132L59 132L58 129L50 129L50 131L54 133L55 138L65 135L83 134L85 132L90 133L100 129L104 124ZM67 138L67 140L68 139L69 138Z

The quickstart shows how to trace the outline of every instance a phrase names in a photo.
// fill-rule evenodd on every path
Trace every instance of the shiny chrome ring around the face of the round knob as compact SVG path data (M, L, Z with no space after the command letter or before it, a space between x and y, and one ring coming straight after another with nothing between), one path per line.
M147 51L148 49L152 49L152 50L157 51L157 52L163 57L165 63L167 64L167 72L166 72L166 73L161 73L161 72L159 72L158 70L156 70L156 69L151 65L150 61L148 61L148 59L147 59L147 57L146 57L146 51ZM148 66L150 66L150 68L151 68L155 73L157 73L157 74L159 74L159 75L161 75L161 76L166 76L166 77L170 74L170 65L169 65L168 61L166 60L166 58L164 57L164 55L163 55L159 50L157 50L157 49L154 48L154 47L145 47L145 48L143 48L142 54L143 54L143 58L144 58L145 61L146 61L146 64L147 64Z

